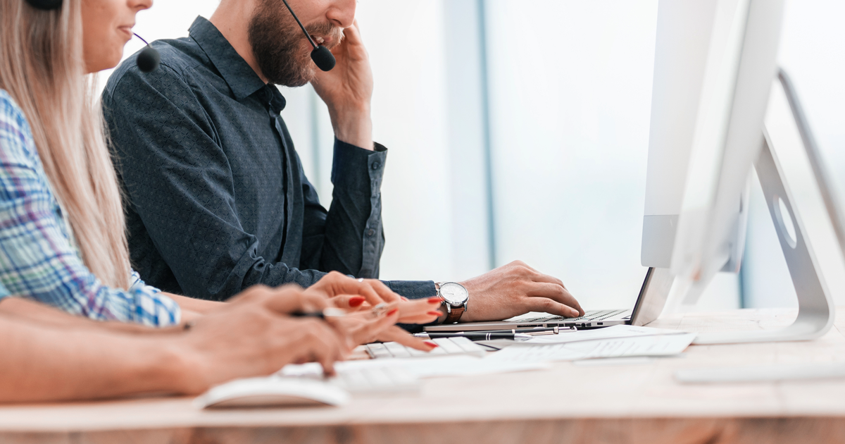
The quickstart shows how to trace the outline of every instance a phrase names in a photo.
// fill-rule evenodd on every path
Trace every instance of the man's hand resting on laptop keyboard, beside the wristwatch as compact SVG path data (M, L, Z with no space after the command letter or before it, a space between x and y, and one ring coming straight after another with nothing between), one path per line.
M584 314L560 279L520 260L461 282L470 293L461 322L501 321L529 311L575 317Z

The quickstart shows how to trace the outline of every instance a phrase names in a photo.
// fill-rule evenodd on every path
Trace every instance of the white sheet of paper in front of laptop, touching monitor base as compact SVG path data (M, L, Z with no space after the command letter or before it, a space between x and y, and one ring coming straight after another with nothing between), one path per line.
M626 356L679 354L695 339L695 333L614 337L572 343L521 343L484 358L505 362L548 362Z

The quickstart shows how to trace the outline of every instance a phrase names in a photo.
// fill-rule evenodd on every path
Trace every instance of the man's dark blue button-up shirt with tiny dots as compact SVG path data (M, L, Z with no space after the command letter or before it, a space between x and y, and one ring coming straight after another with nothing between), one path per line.
M102 104L126 196L135 269L164 291L223 300L263 283L303 287L327 271L379 277L387 150L335 140L329 211L303 172L264 82L208 20L155 41L161 66L135 58L109 78ZM433 282L387 282L408 298Z

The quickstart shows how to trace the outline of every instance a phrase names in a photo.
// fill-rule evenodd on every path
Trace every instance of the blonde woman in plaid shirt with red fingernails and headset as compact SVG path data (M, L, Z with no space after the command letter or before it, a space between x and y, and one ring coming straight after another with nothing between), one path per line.
M0 284L8 293L95 320L170 326L183 312L196 315L221 303L166 295L132 271L121 196L88 75L117 65L135 14L151 4L0 1ZM400 302L381 282L338 273L324 281L313 291L346 308L390 302L401 310L388 315L403 322L439 315L439 299ZM390 327L357 340L385 335L401 332ZM407 335L400 339L432 348Z

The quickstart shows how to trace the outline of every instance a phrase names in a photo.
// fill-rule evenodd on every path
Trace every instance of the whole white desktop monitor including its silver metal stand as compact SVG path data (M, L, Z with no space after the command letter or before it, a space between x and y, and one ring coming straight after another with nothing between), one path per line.
M695 304L717 271L739 271L754 166L799 303L789 326L701 333L695 343L807 340L833 325L831 293L764 128L777 77L845 251L842 217L809 126L788 77L777 71L783 3L660 0L658 6L642 264L669 267L677 277L668 302L675 306Z

